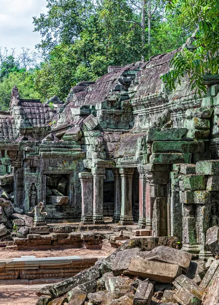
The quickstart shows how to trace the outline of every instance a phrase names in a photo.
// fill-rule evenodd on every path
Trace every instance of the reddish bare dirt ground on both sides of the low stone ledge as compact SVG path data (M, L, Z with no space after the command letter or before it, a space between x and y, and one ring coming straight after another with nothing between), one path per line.
M101 250L70 249L57 247L52 250L25 250L8 251L0 248L0 259L21 257L21 255L35 255L35 257L59 257L78 255L83 257L104 257L108 256L115 249L106 242L103 243ZM0 305L34 305L38 300L35 292L40 290L43 285L0 285Z

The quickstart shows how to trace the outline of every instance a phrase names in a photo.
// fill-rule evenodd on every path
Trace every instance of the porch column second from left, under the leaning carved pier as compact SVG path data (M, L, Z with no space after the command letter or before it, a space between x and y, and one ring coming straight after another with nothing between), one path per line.
M92 168L93 173L93 223L104 224L103 220L103 179L105 168Z

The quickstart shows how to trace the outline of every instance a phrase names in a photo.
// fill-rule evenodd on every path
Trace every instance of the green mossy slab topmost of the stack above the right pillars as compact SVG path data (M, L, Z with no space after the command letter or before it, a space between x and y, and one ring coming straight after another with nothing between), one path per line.
M150 128L148 141L181 141L186 139L187 128Z

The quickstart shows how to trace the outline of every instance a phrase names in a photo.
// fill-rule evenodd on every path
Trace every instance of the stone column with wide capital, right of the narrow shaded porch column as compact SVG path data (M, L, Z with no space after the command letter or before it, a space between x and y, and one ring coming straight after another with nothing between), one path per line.
M132 176L134 168L119 169L122 180L122 207L120 225L133 225L132 216Z

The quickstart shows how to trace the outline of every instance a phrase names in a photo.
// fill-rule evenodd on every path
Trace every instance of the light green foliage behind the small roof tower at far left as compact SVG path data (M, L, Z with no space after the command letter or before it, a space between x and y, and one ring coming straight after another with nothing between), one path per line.
M8 110L10 104L11 90L14 86L19 89L22 99L36 99L38 94L34 87L34 73L11 72L0 82L0 109Z

